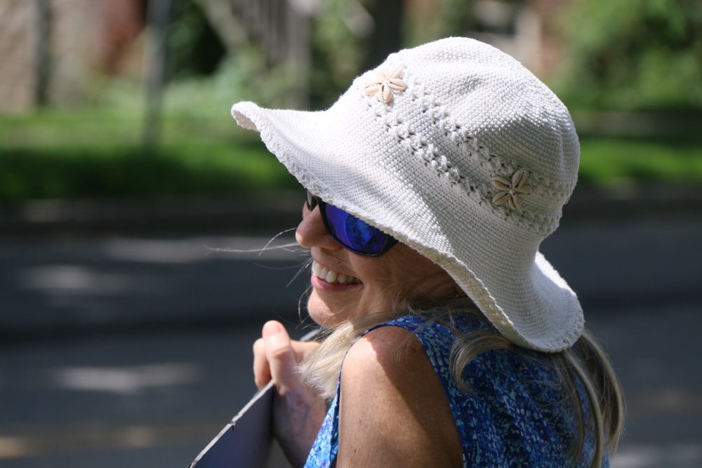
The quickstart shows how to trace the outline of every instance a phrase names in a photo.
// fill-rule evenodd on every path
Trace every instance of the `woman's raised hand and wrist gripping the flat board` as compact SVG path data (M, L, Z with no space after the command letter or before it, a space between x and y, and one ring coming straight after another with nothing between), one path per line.
M256 387L274 382L273 433L293 467L305 464L326 415L324 399L303 384L296 368L318 346L317 342L291 340L277 321L265 323L262 337L253 344Z

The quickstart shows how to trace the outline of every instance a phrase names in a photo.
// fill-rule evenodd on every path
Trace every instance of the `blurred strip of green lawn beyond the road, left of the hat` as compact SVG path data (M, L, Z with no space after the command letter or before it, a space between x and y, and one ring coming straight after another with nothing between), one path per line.
M0 203L164 198L297 187L253 132L221 119L168 118L163 144L140 145L141 121L83 109L0 117ZM251 135L249 135L251 133Z

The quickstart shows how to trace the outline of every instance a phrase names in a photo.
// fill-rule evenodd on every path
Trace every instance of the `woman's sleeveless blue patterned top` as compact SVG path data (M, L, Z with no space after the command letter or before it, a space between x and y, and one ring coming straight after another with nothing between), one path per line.
M592 431L574 465L571 446L577 427L571 399L555 370L527 350L492 350L479 354L463 371L470 392L458 388L449 356L456 341L437 321L403 316L380 326L401 326L422 343L444 386L463 446L465 467L588 467L594 453ZM459 333L494 330L475 318L460 316ZM376 327L377 328L377 327ZM370 331L370 330L369 330ZM367 332L366 332L367 333ZM584 390L577 383L581 401ZM305 467L331 467L338 453L338 394L331 403ZM587 406L583 407L585 417ZM411 460L411 453L407 454ZM602 467L609 467L607 455Z

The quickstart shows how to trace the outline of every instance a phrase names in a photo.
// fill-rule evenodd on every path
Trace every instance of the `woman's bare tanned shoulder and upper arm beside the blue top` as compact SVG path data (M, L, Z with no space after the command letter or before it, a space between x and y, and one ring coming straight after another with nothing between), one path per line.
M383 326L357 340L343 363L340 396L340 460L402 466L411 453L417 466L460 465L444 389L410 330ZM354 446L369 460L350 459L359 454L345 447Z

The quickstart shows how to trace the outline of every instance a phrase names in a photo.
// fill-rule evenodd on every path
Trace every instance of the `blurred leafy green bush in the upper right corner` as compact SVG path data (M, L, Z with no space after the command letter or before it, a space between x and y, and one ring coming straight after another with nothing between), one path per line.
M702 1L573 1L562 34L571 107L702 110Z

